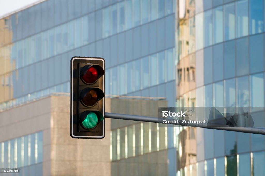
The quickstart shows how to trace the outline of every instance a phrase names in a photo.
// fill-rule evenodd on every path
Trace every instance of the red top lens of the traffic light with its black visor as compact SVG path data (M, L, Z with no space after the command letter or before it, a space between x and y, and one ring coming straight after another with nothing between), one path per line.
M86 65L81 69L81 79L86 84L95 83L104 74L103 68L99 65Z

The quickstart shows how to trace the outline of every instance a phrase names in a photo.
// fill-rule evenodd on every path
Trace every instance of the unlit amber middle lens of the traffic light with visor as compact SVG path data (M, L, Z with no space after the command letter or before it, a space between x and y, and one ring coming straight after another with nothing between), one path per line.
M99 88L86 88L80 94L81 102L88 107L94 106L103 97L104 93Z

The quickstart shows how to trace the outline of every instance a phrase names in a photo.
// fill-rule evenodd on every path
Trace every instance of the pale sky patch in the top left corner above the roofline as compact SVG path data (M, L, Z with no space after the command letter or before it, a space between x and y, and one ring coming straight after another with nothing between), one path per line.
M0 17L10 14L40 0L0 0Z

